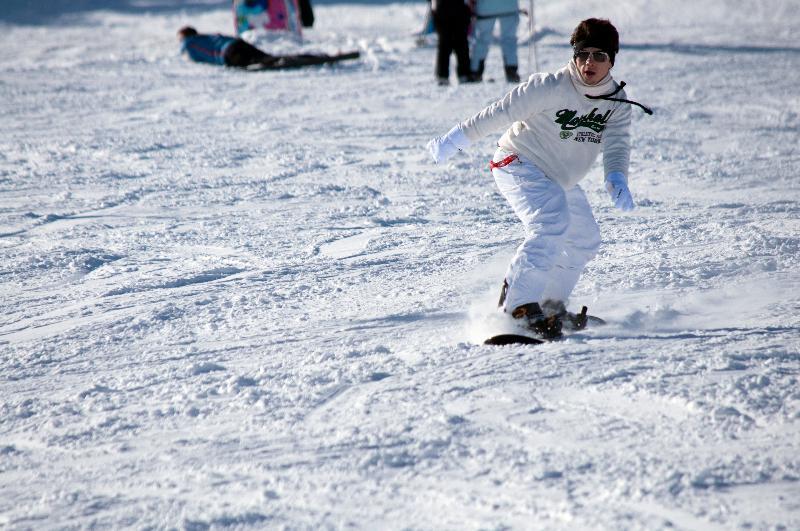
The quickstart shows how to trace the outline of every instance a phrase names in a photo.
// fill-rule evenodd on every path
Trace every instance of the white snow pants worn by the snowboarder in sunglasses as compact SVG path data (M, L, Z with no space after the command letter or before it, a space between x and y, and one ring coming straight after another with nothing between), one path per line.
M506 271L503 310L547 299L566 304L600 247L586 195L577 185L564 190L532 162L503 149L492 159L492 175L525 229L525 241Z

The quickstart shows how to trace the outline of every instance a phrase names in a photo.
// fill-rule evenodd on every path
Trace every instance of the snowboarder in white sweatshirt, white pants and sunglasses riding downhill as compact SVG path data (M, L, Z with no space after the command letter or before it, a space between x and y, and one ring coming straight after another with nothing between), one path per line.
M500 307L546 338L562 321L581 328L585 314L566 311L569 295L597 254L600 230L578 185L603 153L605 185L617 208L632 210L628 189L630 105L624 82L611 77L619 35L605 19L572 33L572 60L555 73L533 74L502 99L431 140L443 162L498 129L507 131L490 163L500 192L519 216L525 240L506 271Z

